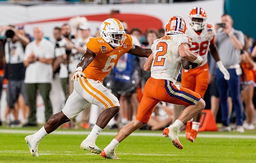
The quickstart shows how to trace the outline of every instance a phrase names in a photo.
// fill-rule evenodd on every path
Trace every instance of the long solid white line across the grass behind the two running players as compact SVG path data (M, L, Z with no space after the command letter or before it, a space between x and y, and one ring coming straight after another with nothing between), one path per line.
M36 130L0 130L0 133L6 134L33 134ZM90 131L53 131L51 134L55 135L88 135ZM117 132L101 132L100 135L116 136ZM145 136L145 137L163 137L161 133L132 133L131 136ZM185 137L185 134L179 134L179 137ZM242 139L256 139L256 135L224 135L224 134L203 134L199 133L197 137L208 138L242 138Z

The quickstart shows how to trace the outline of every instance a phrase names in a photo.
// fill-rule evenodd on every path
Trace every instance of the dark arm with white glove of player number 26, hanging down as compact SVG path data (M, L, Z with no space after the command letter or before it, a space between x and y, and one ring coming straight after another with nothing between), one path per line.
M220 69L220 72L223 73L224 78L225 78L226 80L229 80L229 78L230 78L229 72L228 72L228 70L224 67L223 63L220 61L220 56L219 56L219 53L218 53L218 51L217 51L215 45L211 43L210 46L209 46L209 48L210 48L210 52L211 52L211 54L212 54L213 59L215 60L215 62L216 62L216 64L217 64L218 68Z

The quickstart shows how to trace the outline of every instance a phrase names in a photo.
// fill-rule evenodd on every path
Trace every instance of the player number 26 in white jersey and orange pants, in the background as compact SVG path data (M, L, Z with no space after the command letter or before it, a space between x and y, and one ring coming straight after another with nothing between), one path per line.
M201 7L194 7L190 11L188 17L189 26L187 27L186 34L192 41L190 50L202 56L204 58L204 62L196 69L182 70L181 86L195 91L203 97L209 83L209 67L207 64L208 48L210 48L210 52L226 80L229 80L229 73L220 61L218 51L214 45L215 31L211 24L207 24L205 22L207 17L204 9ZM196 115L194 119L187 122L186 138L191 142L195 141L200 124L200 118L201 113Z

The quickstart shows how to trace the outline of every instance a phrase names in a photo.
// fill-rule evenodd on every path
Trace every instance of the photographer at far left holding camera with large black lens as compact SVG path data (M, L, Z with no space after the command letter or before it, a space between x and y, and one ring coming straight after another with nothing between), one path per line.
M19 110L15 109L14 105L18 101L20 93L23 95L25 100L26 110L28 110L28 100L25 91L25 70L23 65L25 47L30 42L29 39L20 34L13 27L7 28L5 32L6 42L4 45L5 52L5 74L4 78L8 80L7 88L7 104L9 107L9 113L12 112L14 121L11 122L13 125L20 124L19 121ZM27 117L24 117L25 119Z

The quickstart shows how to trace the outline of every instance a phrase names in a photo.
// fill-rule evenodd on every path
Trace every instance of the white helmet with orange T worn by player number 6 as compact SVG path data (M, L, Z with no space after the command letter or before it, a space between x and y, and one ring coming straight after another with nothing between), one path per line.
M124 26L118 19L107 19L100 26L100 37L115 48L123 46L126 39Z

